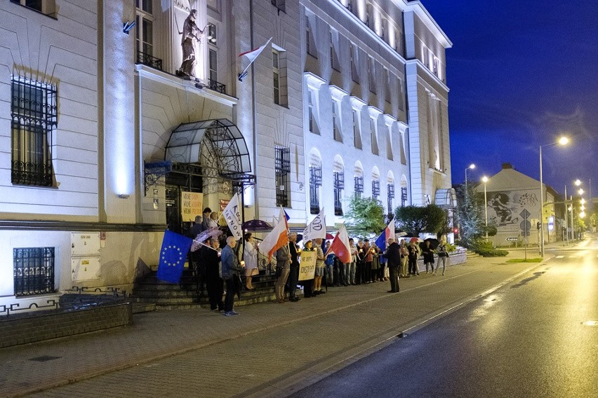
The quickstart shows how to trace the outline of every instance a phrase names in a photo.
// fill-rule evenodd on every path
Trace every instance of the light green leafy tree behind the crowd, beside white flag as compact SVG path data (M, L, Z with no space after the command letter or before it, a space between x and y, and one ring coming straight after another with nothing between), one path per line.
M380 233L385 227L384 207L379 200L354 195L345 212L345 226L351 235L366 237Z

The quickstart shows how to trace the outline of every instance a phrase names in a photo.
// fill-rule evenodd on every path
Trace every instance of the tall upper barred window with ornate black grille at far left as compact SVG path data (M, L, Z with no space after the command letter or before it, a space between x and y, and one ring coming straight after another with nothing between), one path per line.
M52 132L58 120L56 88L13 76L11 98L11 181L52 186Z

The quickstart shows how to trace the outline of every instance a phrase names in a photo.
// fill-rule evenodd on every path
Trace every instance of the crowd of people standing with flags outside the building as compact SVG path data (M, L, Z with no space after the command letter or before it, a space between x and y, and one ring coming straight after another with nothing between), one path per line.
M196 233L201 228L209 228L210 216L211 211L206 208L201 223L205 225L192 233ZM305 299L325 294L326 287L348 287L385 281L390 281L388 292L396 293L399 291L399 278L420 275L418 268L420 256L423 257L425 273L432 273L432 275L439 272L440 266L442 266L442 275L445 275L449 259L444 238L435 248L430 241L420 245L420 242L415 239L405 238L396 241L389 239L385 250L368 239L359 239L355 244L355 240L350 238L350 263L343 263L333 252L328 251L331 246L330 241L323 242L318 238L313 242L312 240L303 242L303 247L300 247L297 238L297 233L289 232L288 245L274 252L276 259L274 293L277 303L299 301L300 297L297 294L299 285L303 286ZM234 237L228 236L225 238L225 243L224 240L222 243L224 247L220 250L221 239L217 236L208 238L194 256L194 268L197 275L201 274L204 277L210 309L222 312L226 316L238 315L239 313L233 308L234 295L240 294L241 291L241 273L245 277L244 288L248 291L255 289L253 278L259 275L259 245L255 242L253 234L245 233L241 259L239 259L241 245L237 245ZM303 252L315 252L316 263L313 279L300 281L298 277ZM438 259L436 264L434 254ZM224 301L222 296L225 296Z

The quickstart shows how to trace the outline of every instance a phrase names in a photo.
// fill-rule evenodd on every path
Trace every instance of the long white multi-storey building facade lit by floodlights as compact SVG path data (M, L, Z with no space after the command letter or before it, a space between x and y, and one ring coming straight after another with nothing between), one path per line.
M235 191L246 220L334 226L356 191L390 212L450 188L451 43L418 1L84 3L0 4L0 315L131 291Z

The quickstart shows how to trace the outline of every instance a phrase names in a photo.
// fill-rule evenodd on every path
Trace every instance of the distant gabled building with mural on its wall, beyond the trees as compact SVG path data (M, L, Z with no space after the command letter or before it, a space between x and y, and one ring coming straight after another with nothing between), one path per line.
M559 194L546 184L543 185L544 240L563 240L565 227L564 204ZM475 191L484 195L484 183ZM561 202L561 203L559 203ZM494 245L505 246L517 240L525 240L528 231L528 245L540 242L540 181L518 172L510 163L503 163L500 172L489 177L486 183L486 211L488 224L494 225L498 233L489 237ZM527 217L525 217L527 215ZM484 213L482 214L484 217ZM529 229L527 229L529 228Z

